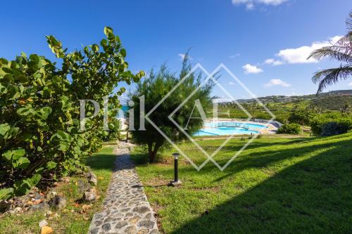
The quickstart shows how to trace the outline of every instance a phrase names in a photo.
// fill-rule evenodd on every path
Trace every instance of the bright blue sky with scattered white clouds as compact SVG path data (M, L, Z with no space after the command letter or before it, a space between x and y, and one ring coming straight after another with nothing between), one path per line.
M99 42L108 25L122 39L132 71L148 72L166 62L177 72L182 53L191 48L192 63L209 72L223 63L257 96L268 96L315 93L313 72L339 64L304 58L345 34L352 2L86 0L5 1L1 6L1 57L13 59L24 51L54 60L45 35L53 34L72 51ZM225 73L219 82L235 98L249 96ZM326 91L336 89L352 89L352 80ZM220 89L214 94L226 98Z

